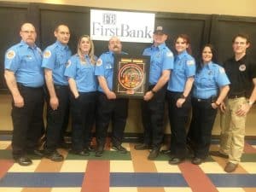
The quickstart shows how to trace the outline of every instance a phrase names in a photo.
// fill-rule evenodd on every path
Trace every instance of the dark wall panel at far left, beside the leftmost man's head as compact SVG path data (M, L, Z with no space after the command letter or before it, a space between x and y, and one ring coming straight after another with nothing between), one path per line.
M26 5L0 5L0 89L6 89L3 79L4 54L11 45L20 42L20 25L26 21Z

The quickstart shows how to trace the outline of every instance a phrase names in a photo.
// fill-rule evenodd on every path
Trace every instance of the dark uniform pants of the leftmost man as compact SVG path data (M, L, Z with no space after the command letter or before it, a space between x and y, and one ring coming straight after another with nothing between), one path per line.
M12 102L12 121L14 125L12 148L14 158L28 150L38 148L38 140L44 128L44 90L43 87L31 88L18 84L24 107L16 108Z

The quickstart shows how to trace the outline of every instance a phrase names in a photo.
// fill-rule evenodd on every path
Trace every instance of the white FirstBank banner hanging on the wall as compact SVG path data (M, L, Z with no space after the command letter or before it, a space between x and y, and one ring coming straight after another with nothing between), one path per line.
M152 43L154 14L90 9L90 37L108 41Z

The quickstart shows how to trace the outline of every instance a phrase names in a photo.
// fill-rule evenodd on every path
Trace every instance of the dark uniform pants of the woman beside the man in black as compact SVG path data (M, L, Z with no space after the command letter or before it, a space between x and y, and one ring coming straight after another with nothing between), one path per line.
M212 108L212 99L192 98L192 119L188 133L188 144L195 157L205 159L211 144L212 126L217 109Z

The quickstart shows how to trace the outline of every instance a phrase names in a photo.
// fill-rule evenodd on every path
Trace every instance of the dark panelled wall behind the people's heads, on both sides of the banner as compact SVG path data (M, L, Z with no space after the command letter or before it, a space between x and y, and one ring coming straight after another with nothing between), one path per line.
M54 29L66 24L71 30L69 46L73 53L77 49L79 36L90 34L90 8L52 5L43 3L0 3L0 90L6 89L3 79L3 58L6 49L20 41L20 25L31 21L37 28L37 44L45 49L55 42ZM166 44L173 50L173 41L180 33L191 38L193 55L200 55L203 44L212 43L218 51L219 61L232 55L231 38L237 32L247 32L256 44L256 18L226 15L195 15L155 13L155 26L164 26L169 32ZM108 50L107 41L94 41L96 55ZM256 46L252 44L249 54L256 60ZM123 50L132 55L141 55L149 44L123 43Z

